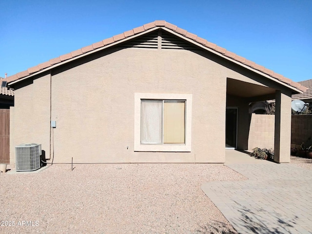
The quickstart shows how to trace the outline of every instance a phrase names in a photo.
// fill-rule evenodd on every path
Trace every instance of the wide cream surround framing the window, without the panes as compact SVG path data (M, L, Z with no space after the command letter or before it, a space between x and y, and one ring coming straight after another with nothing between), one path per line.
M185 100L185 144L141 144L141 99ZM192 94L135 93L134 151L191 152Z

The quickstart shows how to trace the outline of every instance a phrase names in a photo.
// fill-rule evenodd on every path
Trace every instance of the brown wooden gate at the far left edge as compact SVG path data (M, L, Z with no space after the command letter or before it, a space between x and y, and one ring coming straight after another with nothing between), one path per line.
M10 110L0 109L0 163L10 163Z

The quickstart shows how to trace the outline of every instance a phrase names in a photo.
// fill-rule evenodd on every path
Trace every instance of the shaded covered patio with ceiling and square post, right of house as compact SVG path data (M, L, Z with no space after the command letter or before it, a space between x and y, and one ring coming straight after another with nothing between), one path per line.
M269 76L249 74L246 70L238 72L245 75L245 79L227 78L226 148L251 150L248 146L251 123L249 103L275 99L274 161L290 162L291 102L296 88ZM229 153L226 155L231 157Z

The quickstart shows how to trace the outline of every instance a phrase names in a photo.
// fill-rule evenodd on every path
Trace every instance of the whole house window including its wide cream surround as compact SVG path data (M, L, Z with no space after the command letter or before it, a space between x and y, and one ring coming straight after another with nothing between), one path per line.
M135 94L135 151L190 152L192 95Z

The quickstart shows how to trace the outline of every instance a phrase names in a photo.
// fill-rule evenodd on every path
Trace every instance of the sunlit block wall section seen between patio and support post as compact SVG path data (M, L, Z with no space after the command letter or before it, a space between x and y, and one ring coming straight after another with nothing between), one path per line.
M255 147L274 149L274 115L252 114L248 150Z

